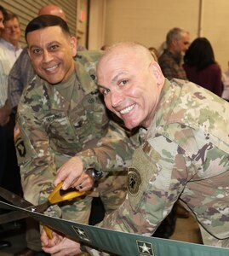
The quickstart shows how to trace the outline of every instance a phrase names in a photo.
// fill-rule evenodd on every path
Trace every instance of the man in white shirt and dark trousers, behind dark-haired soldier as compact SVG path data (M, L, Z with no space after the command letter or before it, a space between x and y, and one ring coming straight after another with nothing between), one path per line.
M0 76L1 87L5 89L4 102L0 108L0 124L5 125L7 129L7 150L6 150L6 168L4 170L3 183L5 189L20 193L20 170L17 165L15 147L14 147L14 124L15 113L11 113L7 119L4 119L7 110L4 108L7 101L9 72L14 62L19 57L22 48L20 47L20 21L17 15L9 13L4 20L4 29L0 38ZM12 177L14 179L12 180Z

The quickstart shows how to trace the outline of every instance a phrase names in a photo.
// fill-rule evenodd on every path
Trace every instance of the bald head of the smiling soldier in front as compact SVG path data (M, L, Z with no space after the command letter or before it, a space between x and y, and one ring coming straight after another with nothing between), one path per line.
M106 108L128 129L148 127L163 88L163 73L151 52L132 42L106 49L96 68L97 84Z

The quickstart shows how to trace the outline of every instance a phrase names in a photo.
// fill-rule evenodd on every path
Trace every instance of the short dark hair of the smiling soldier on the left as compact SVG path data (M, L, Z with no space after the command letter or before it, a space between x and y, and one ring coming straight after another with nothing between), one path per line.
M27 34L29 32L33 32L49 26L60 26L63 33L65 33L67 36L71 36L69 27L67 26L65 20L55 15L40 15L40 16L37 16L37 18L34 18L33 20L31 20L29 24L26 26L26 32L25 32L26 41L27 41Z

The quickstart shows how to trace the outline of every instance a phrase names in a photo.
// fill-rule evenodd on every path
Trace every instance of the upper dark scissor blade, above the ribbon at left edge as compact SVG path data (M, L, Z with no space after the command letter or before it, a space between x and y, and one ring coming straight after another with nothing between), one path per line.
M3 197L3 199L11 202L17 207L32 206L32 204L29 201L26 201L24 198L20 197L20 195L16 195L7 189L3 189L2 187L0 187L0 196Z

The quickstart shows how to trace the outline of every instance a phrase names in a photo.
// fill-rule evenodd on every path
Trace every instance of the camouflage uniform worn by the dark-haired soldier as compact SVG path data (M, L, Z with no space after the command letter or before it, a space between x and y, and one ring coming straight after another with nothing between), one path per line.
M47 199L57 170L74 155L83 160L84 171L89 167L122 171L131 159L129 137L119 125L109 121L100 100L95 83L99 57L98 51L82 52L77 55L75 72L66 82L50 85L36 76L23 92L14 141L24 196L35 205ZM111 172L98 184L99 191L100 183L102 189L109 189L110 194L102 197L108 211L123 202L126 195L126 175L118 173ZM89 196L74 204L67 201L61 207L62 218L87 223L90 203Z

